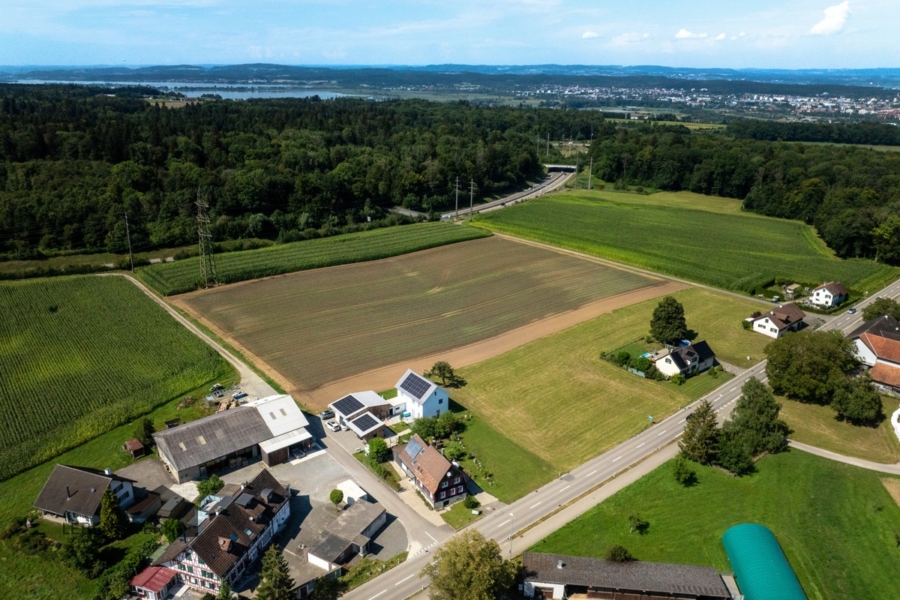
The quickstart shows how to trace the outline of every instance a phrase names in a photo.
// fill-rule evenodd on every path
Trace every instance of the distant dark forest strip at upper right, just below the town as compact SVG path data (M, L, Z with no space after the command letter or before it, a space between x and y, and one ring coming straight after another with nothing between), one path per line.
M900 146L900 127L885 123L787 123L738 119L728 123L730 135L770 142L824 142Z

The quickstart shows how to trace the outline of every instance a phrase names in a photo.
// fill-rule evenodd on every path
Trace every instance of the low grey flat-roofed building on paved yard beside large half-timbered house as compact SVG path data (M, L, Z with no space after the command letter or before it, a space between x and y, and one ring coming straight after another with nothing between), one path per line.
M310 548L303 548L303 553L310 564L320 569L340 569L357 554L369 553L369 543L386 522L387 513L380 504L357 499Z

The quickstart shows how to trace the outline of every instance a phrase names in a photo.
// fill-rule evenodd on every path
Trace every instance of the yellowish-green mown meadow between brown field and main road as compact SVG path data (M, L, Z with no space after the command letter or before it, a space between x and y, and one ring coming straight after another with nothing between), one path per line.
M771 340L740 326L756 303L698 288L674 296L685 307L688 327L721 360L746 367L764 358ZM649 415L660 420L727 381L704 374L679 387L641 379L600 359L600 352L646 335L657 304L634 304L460 369L468 383L453 390L454 400L517 448L492 441L475 450L498 485L509 486L504 501L634 436L648 427ZM534 458L517 456L520 451ZM540 468L532 466L539 462Z

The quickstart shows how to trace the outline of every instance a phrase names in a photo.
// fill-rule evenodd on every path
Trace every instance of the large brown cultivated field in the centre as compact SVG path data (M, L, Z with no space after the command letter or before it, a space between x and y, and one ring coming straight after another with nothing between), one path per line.
M179 304L309 390L657 283L488 238L196 292Z

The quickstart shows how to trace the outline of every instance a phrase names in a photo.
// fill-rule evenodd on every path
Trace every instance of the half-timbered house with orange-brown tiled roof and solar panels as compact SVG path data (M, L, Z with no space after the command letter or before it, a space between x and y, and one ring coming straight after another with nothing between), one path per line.
M466 497L466 476L444 455L413 435L392 448L394 460L434 508L446 508Z

